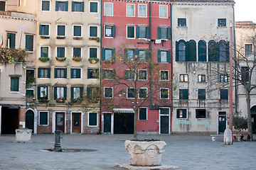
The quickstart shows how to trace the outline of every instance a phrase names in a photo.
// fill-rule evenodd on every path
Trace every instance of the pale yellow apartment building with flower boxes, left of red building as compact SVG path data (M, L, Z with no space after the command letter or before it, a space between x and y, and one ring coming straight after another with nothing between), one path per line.
M98 133L100 1L38 0L37 6L31 106L37 133Z

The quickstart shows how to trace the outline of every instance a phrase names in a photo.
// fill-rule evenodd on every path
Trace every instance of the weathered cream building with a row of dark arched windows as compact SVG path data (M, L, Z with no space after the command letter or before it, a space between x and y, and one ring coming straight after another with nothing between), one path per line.
M230 20L234 21L235 2L171 4L172 132L224 132L228 128Z

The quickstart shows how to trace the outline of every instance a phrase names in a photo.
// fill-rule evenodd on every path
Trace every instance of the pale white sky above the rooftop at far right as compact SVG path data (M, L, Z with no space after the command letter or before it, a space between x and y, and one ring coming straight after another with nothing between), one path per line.
M235 21L256 23L256 0L235 0Z

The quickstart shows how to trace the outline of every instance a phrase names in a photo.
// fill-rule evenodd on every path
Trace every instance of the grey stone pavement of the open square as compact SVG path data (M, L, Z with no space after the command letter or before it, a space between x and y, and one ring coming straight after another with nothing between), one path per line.
M63 149L96 149L93 152L46 152L55 135L32 135L33 142L18 143L15 135L0 136L0 169L115 169L129 164L124 140L133 135L61 135ZM256 137L256 136L255 136ZM256 169L256 142L212 142L210 135L139 135L166 142L162 164L180 169ZM255 138L256 139L256 138Z

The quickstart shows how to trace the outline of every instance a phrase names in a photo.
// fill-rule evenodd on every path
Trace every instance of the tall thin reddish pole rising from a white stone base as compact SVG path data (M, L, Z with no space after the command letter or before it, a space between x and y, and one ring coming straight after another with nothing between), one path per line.
M230 91L229 91L229 129L233 132L233 74L232 74L232 20L230 20Z

